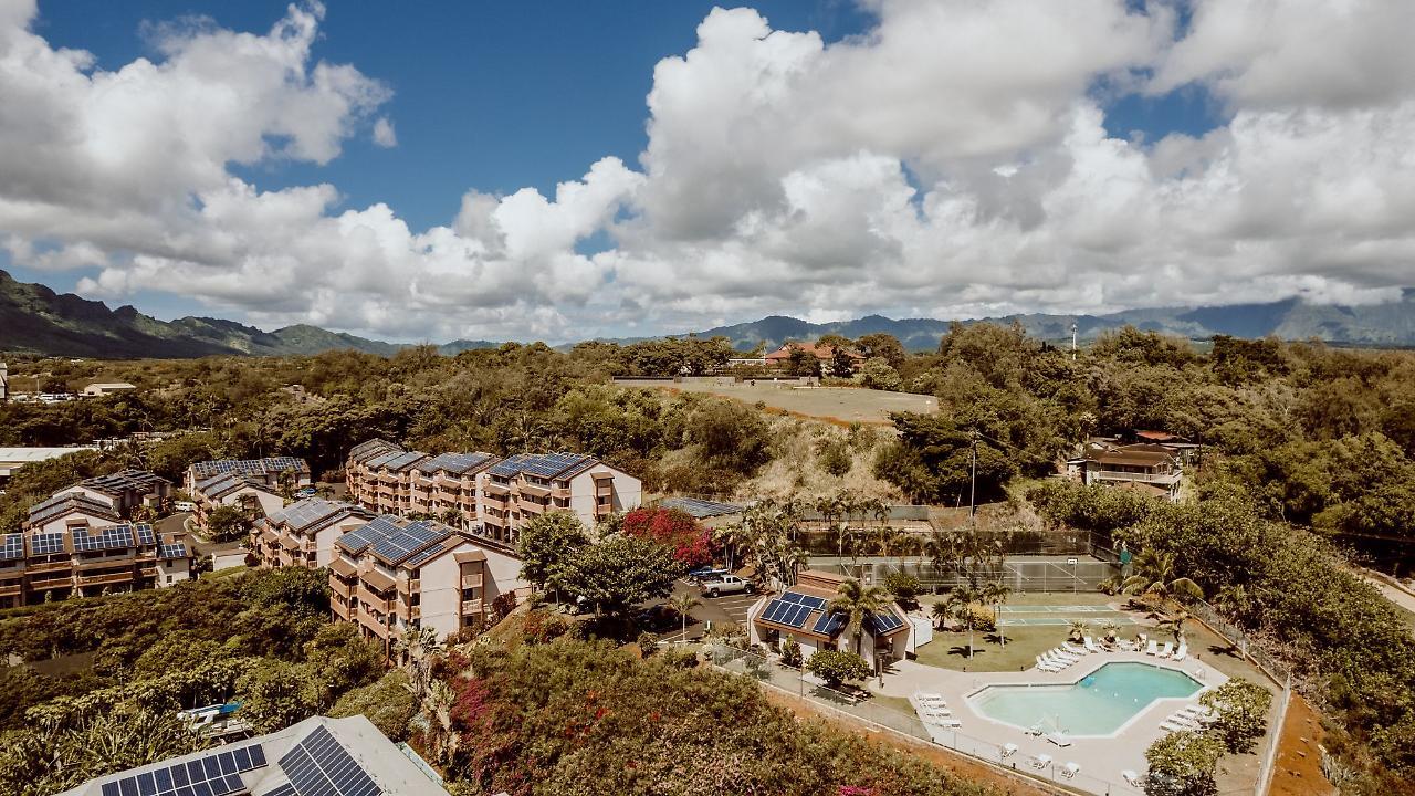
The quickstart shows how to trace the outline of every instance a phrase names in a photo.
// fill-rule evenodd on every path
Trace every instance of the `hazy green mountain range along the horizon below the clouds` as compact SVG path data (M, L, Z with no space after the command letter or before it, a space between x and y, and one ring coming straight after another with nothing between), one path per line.
M1061 341L1077 334L1091 340L1102 331L1135 326L1194 340L1214 334L1288 340L1317 337L1356 346L1415 346L1415 289L1407 289L1399 302L1371 306L1309 305L1296 299L1258 305L1221 307L1160 307L1124 310L1109 314L1010 314L982 319L995 323L1020 323L1029 334ZM964 323L978 323L968 320ZM795 317L770 316L750 323L719 326L698 331L699 337L727 337L733 347L768 350L788 340L811 341L822 334L860 337L889 333L911 351L931 350L948 331L949 322L938 319L889 319L872 314L855 320L809 323ZM620 339L616 343L633 343ZM95 358L183 358L207 356L287 356L352 348L391 356L405 343L385 343L354 334L297 324L263 331L232 320L180 317L171 322L146 316L130 306L109 309L103 302L55 293L44 285L17 282L0 271L0 351L95 357ZM468 348L495 347L488 340L456 340L439 346L443 354Z

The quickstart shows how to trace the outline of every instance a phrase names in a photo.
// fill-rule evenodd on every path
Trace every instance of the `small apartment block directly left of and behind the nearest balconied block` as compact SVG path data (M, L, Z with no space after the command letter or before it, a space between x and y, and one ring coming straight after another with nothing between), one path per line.
M311 497L258 518L250 527L250 554L259 567L328 567L334 541L362 527L374 513L351 503Z

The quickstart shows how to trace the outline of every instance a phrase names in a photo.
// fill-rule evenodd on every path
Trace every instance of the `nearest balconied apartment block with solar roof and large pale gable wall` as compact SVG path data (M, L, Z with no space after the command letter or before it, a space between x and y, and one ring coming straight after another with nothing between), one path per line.
M511 548L386 514L340 537L330 562L334 618L358 625L389 657L410 629L432 627L446 639L485 622L498 596L528 589Z

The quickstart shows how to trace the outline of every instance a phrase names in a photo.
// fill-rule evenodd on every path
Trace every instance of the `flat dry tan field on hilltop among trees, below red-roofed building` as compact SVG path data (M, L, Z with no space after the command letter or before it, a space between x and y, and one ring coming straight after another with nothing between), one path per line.
M836 423L889 425L890 412L932 412L938 402L930 395L859 390L852 387L775 387L771 384L716 384L699 381L618 381L623 387L657 387L685 392L710 392L736 398L747 404L761 401L807 418L821 418Z

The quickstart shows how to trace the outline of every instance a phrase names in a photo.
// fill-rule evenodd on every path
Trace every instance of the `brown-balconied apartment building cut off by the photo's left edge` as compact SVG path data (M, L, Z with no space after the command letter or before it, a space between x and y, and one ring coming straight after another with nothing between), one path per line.
M195 558L177 537L125 523L112 501L78 491L37 503L0 542L0 608L170 586L191 578Z

